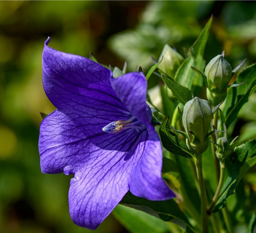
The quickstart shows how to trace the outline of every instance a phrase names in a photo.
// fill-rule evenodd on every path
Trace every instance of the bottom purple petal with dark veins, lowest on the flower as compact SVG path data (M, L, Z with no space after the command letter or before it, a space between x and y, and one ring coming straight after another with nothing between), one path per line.
M128 131L128 130L127 130ZM118 133L117 133L118 134ZM70 215L77 225L96 229L129 190L135 164L145 148L148 133L122 137L123 148L109 152L102 160L91 160L80 166L71 180L69 191Z

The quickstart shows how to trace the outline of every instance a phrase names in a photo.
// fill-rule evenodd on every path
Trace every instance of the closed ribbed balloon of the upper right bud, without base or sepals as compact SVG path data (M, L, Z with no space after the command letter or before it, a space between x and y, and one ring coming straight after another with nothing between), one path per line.
M232 67L222 55L218 55L206 66L205 75L211 92L226 92L226 87L232 78Z

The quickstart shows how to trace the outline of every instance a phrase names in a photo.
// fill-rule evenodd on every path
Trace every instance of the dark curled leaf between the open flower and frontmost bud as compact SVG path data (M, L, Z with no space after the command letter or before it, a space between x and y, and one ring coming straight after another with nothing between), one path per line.
M167 116L160 125L159 134L164 148L173 154L190 158L195 162L195 155L188 149L186 144L179 139L174 129L171 128L169 117Z

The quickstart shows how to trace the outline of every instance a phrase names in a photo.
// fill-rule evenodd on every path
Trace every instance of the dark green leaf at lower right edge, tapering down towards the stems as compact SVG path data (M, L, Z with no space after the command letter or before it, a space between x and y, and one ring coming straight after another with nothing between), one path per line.
M226 178L213 212L225 206L226 200L234 193L238 182L246 171L256 164L256 139L235 148L230 159L226 161L229 175Z

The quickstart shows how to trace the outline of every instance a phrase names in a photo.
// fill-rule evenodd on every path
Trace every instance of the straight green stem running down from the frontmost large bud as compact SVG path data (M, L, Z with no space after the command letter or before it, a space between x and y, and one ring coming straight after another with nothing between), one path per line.
M203 233L208 233L207 197L203 176L202 154L196 155L196 169L201 192L201 224Z

